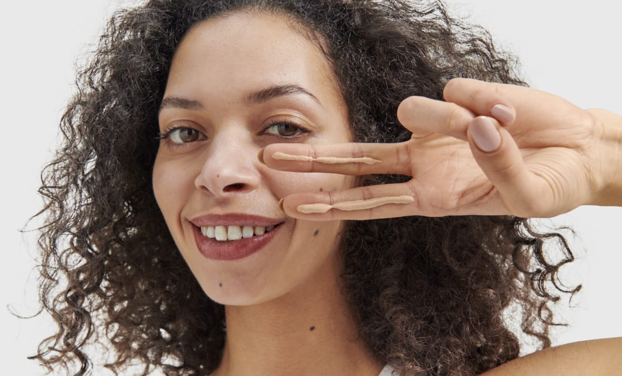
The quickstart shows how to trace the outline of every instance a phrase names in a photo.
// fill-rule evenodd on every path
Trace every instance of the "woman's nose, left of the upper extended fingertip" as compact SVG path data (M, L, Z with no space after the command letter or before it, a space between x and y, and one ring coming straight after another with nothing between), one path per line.
M258 147L226 140L213 140L195 186L215 196L248 193L259 186L256 168Z

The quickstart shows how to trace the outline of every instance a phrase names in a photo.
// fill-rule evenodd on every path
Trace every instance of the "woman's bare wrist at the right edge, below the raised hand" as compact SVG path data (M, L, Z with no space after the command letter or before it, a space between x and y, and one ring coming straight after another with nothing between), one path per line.
M587 110L600 127L596 185L591 205L622 206L622 116L603 109Z

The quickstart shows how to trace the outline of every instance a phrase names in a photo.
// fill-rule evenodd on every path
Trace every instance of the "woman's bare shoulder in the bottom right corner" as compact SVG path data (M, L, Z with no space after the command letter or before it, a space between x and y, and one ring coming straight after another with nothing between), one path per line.
M622 337L550 347L514 359L480 376L622 375Z

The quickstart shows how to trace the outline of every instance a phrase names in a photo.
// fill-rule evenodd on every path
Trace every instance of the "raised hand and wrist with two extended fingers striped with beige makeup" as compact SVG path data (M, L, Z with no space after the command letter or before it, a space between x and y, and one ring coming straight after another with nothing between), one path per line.
M406 183L290 195L285 213L318 221L550 217L582 204L619 203L620 116L586 111L535 89L476 80L452 80L443 94L445 101L402 101L397 117L412 132L406 142L267 146L262 159L279 170L412 177Z

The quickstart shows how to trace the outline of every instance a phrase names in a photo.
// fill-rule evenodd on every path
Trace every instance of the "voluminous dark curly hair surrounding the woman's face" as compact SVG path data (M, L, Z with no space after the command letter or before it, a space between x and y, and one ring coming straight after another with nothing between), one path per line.
M240 10L286 15L323 49L357 142L409 139L398 104L411 95L442 99L451 78L525 85L511 55L439 1L150 0L116 12L78 76L64 144L42 173L40 300L58 329L32 359L49 369L85 375L85 345L101 338L114 346L106 367L115 372L132 360L144 374L218 367L224 309L198 285L156 204L152 136L180 39L197 22ZM342 234L342 288L360 336L401 375L479 374L518 357L524 334L550 346L550 303L578 290L559 281L573 260L564 237L523 218L347 221Z

